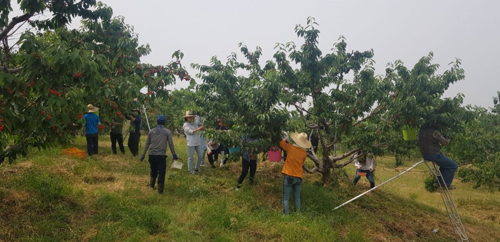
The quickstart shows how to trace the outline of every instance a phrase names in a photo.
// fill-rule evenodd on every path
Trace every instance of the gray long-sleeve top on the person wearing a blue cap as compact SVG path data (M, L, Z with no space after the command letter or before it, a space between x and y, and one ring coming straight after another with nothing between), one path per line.
M142 151L142 155L146 154L147 148L149 148L148 155L158 156L158 155L166 155L166 144L168 142L168 146L170 147L170 152L172 155L176 155L175 147L173 146L172 140L172 132L165 128L157 127L151 129L149 133L147 133L146 143L144 144L144 150Z

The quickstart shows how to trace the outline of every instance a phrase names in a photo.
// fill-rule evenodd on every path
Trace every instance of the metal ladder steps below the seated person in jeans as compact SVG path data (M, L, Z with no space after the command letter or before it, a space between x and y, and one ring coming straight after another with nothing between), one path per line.
M436 166L434 162L431 161L425 161L424 162L427 168L429 168L430 172L434 174L434 177L436 178L437 181L441 180L441 184L444 183L444 179L441 176L441 172L439 171L439 168ZM432 165L429 165L431 163ZM443 188L444 187L444 188ZM453 202L453 199L451 198L451 195L449 194L448 188L444 186L439 186L439 192L441 193L441 198L442 201L444 202L444 206L446 207L446 211L448 212L449 219L451 220L451 223L453 224L453 228L455 230L455 233L459 237L460 242L468 242L467 238L467 233L465 232L465 229L463 228L463 224L460 220L460 217L458 216L458 211L456 210L455 203Z

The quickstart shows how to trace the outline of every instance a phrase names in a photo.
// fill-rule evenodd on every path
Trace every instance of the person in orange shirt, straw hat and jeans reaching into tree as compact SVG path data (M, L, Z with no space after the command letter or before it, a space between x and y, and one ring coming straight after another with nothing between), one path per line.
M295 144L289 144L286 139L279 142L279 146L286 151L281 174L283 177L283 214L288 215L288 201L290 192L293 190L295 201L295 212L300 211L300 188L302 187L302 164L307 158L307 150L311 148L311 142L307 140L306 133L291 133L290 138Z

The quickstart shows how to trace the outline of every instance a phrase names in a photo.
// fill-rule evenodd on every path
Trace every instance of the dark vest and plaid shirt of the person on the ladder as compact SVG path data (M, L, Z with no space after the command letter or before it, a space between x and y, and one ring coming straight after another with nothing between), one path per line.
M431 127L421 127L418 131L418 146L422 156L435 155L441 152L441 146L449 144L439 131Z

